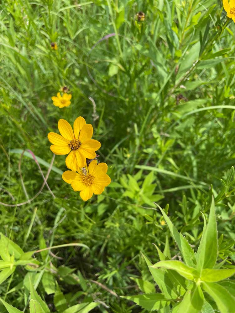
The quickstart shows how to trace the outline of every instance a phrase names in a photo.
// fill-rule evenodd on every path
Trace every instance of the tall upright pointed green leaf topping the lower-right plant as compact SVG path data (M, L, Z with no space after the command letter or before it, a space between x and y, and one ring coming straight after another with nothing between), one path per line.
M208 224L203 227L201 242L196 253L197 269L212 269L216 264L218 254L217 224L215 203L212 197Z

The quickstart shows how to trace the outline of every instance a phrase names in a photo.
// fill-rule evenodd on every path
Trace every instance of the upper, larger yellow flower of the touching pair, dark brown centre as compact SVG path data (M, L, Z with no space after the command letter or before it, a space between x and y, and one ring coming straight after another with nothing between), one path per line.
M91 139L93 127L86 124L83 117L76 118L73 124L73 130L70 124L65 120L59 120L59 134L49 133L48 139L52 143L50 150L59 155L69 155L65 159L65 164L72 171L77 171L79 167L86 166L86 158L94 159L101 143Z

